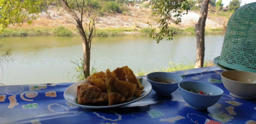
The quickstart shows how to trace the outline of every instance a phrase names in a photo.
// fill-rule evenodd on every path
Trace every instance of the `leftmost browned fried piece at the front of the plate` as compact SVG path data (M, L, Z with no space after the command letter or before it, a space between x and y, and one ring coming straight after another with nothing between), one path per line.
M77 86L78 104L103 104L108 102L108 95L91 84Z

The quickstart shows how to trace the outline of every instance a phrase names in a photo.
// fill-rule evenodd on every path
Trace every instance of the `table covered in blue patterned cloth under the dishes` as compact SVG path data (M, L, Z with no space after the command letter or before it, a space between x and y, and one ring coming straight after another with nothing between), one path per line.
M157 95L152 90L140 100L153 101L149 105L87 109L64 99L65 89L73 82L1 86L0 123L256 123L256 99L232 97L222 84L222 70L217 66L173 73L183 81L214 84L224 94L207 110L189 107L179 89L169 96Z

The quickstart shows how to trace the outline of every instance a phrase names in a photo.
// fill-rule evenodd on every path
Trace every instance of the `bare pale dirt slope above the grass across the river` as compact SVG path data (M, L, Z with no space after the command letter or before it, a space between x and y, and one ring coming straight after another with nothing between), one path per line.
M123 14L111 14L105 17L97 18L97 28L143 28L148 27L147 22L157 25L159 19L156 15L151 15L150 9L140 7L129 7L128 12ZM194 27L199 19L199 12L189 11L187 15L183 15L181 24L175 25L175 27ZM216 19L208 15L206 20L206 28L222 28L223 24L227 22L227 19ZM50 7L47 12L42 12L39 19L34 20L32 25L24 24L22 27L57 27L57 26L73 27L75 24L72 17L62 8Z

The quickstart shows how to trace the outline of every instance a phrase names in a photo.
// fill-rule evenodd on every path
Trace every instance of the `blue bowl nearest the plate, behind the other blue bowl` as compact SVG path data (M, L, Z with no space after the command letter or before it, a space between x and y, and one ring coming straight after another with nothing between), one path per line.
M159 95L171 95L178 89L179 82L183 81L178 74L166 72L149 73L146 78L152 85L152 89Z

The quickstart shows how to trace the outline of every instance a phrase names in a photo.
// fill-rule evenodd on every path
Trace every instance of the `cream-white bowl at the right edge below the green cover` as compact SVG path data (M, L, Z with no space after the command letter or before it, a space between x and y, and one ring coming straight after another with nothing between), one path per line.
M232 70L220 76L230 95L239 99L252 99L256 95L256 73Z

